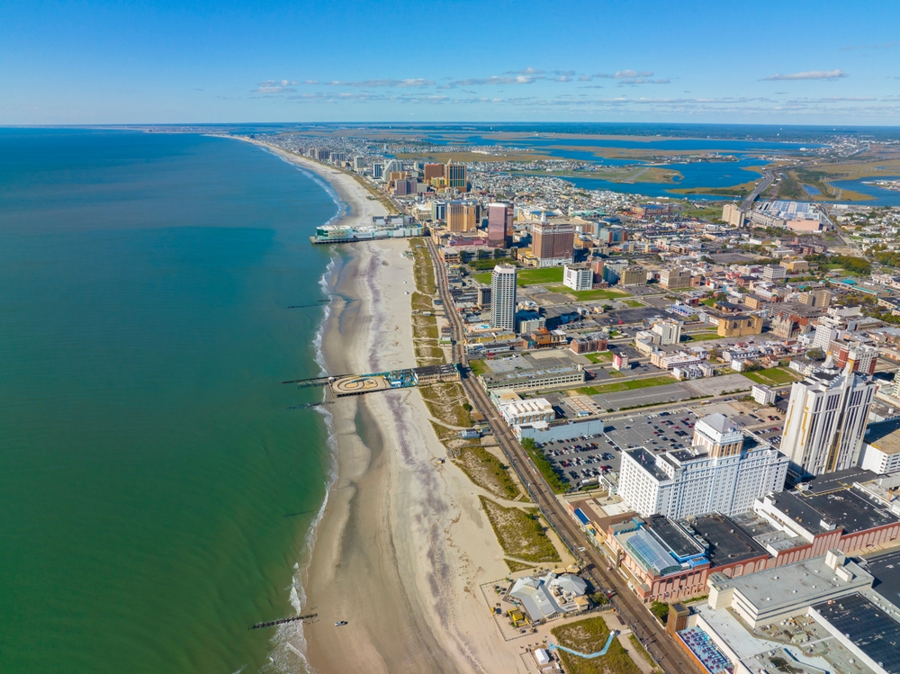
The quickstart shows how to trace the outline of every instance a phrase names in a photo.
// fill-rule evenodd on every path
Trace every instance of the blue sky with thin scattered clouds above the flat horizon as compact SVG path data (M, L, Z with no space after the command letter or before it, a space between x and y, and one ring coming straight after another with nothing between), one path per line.
M900 3L0 3L0 124L900 125Z

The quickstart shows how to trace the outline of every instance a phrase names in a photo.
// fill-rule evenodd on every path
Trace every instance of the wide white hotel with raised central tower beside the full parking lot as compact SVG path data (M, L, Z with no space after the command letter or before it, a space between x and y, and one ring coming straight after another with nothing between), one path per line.
M784 488L788 458L770 445L744 447L743 433L723 414L697 422L690 449L622 453L618 494L642 516L673 519L734 515Z

